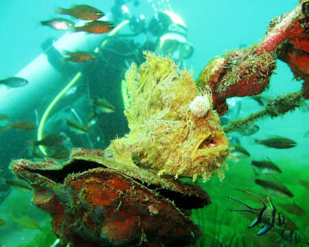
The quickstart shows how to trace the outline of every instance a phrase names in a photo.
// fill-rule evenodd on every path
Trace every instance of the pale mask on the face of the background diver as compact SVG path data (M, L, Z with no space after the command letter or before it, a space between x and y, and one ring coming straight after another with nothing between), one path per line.
M162 55L170 54L175 60L183 60L192 56L193 46L181 34L168 33L161 36L157 52Z

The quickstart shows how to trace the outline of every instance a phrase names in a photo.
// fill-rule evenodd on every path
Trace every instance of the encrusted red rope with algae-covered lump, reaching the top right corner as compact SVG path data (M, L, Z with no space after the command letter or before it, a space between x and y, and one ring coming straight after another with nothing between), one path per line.
M308 33L308 18L301 11L299 3L293 11L273 19L265 38L258 45L231 51L226 56L216 56L209 61L196 84L201 89L209 86L213 93L214 108L219 115L224 115L228 109L227 98L258 95L266 89L276 67L275 51L280 44L285 40L298 43L300 38L304 41L303 47L308 47ZM308 54L305 58L308 61ZM297 56L296 59L299 61L298 67L304 64L309 71L304 56ZM288 65L291 67L290 63ZM302 90L305 98L309 97L308 71L303 77L295 75L305 81Z

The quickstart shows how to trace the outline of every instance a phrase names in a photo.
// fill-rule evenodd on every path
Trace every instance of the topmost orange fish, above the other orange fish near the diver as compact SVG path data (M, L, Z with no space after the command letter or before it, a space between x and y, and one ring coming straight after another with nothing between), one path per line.
M78 19L82 20L98 20L100 17L104 16L104 13L101 10L93 8L86 4L75 4L72 8L58 8L56 10L58 14L69 14Z

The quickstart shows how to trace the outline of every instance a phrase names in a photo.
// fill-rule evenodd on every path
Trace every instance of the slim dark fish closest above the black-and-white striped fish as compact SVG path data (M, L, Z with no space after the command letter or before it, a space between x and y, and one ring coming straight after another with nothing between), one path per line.
M293 193L282 183L269 180L255 179L257 185L262 186L268 193L279 198L293 198Z

